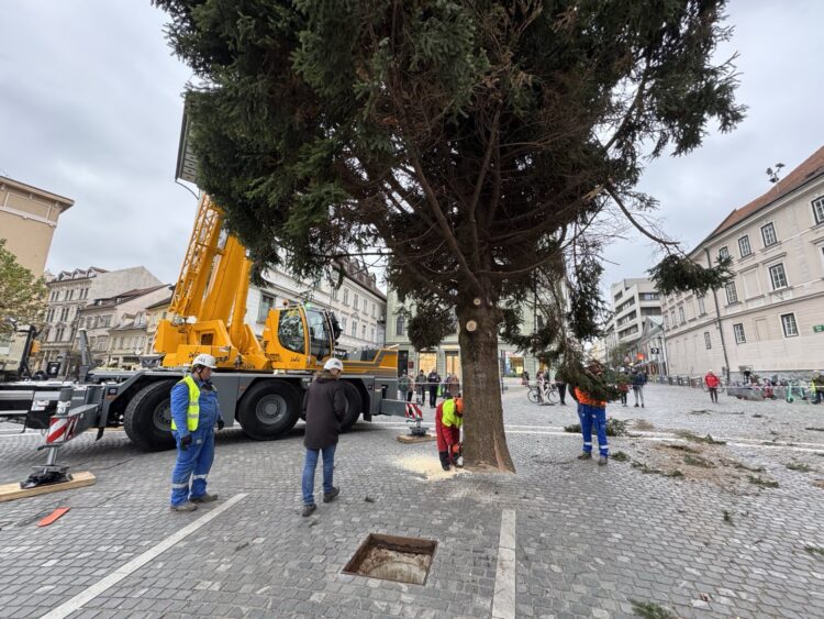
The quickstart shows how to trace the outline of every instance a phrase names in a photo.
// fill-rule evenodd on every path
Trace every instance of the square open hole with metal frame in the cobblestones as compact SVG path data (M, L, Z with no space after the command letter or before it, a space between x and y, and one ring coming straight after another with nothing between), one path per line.
M437 542L369 533L344 567L344 574L423 585Z

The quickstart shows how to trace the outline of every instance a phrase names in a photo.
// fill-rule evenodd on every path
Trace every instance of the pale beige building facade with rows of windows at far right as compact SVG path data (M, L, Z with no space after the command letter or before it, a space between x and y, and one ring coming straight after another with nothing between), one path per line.
M805 378L824 366L824 147L734 210L691 253L733 259L735 278L701 297L667 297L669 373Z

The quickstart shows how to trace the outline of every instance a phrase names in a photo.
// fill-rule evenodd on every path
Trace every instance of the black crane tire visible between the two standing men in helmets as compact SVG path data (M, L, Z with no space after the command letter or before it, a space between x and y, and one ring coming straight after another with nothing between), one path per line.
M283 380L263 380L240 404L237 421L256 441L271 441L289 432L300 417L300 394Z

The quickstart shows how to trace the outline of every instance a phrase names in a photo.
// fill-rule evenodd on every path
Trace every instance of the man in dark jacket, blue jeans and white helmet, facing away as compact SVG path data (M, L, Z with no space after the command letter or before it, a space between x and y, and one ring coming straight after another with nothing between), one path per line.
M302 483L303 516L309 516L318 509L314 502L314 469L318 466L319 452L323 453L323 502L334 500L341 493L332 485L337 434L346 414L344 389L337 379L341 372L341 360L329 360L323 364L323 373L312 382L303 397L303 414L307 418L303 438L307 447Z

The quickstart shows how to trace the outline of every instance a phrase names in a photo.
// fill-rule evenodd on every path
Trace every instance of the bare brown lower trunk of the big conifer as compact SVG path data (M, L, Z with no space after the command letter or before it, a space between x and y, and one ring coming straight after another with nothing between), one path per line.
M498 310L486 303L457 308L464 375L464 464L514 473L503 431L498 366Z

